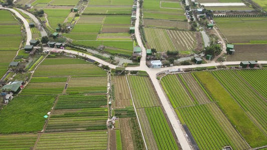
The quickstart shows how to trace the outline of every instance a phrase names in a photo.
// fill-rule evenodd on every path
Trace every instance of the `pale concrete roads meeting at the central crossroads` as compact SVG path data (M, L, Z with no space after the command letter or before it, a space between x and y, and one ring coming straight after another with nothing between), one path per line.
M2 6L0 6L0 8L4 8ZM20 17L26 27L26 31L27 31L27 44L29 44L30 40L32 39L32 33L30 30L30 26L29 23L27 22L27 20L16 10L11 9L11 8L4 8L4 9L9 9L13 12L15 12L17 14L18 17ZM173 110L173 108L171 107L170 103L168 102L167 98L164 95L164 92L160 86L160 82L159 80L156 78L156 74L158 72L161 71L165 71L168 69L173 69L173 68L193 68L193 67L201 67L201 66L216 66L216 65L229 65L229 64L239 64L240 61L229 61L229 62L214 62L212 61L211 63L205 63L205 64L193 64L193 65L180 65L180 66L171 66L171 67L163 67L163 68L148 68L146 66L146 49L144 47L144 45L142 44L141 41L141 37L140 37L140 33L139 33L139 13L140 13L140 8L139 8L139 2L137 2L137 10L136 10L136 23L135 23L135 35L136 35L136 39L138 41L138 44L141 46L142 48L142 58L140 61L140 66L138 67L126 67L126 70L145 70L147 71L147 73L149 74L152 83L159 95L160 101L164 107L164 110L167 113L167 116L171 122L171 125L175 131L175 134L178 138L178 141L182 147L182 149L192 149L188 140L186 139L186 134L183 132L182 130L182 126L180 125L180 121L179 119L176 117L176 113ZM72 51L72 50L66 50L66 49L59 49L59 48L51 48L51 47L44 47L45 50L55 50L55 51L66 51L69 53L73 53L73 54L81 54L82 52L77 52L77 51ZM94 56L88 55L88 54L84 54L83 56L88 57L90 59L96 60L104 65L108 65L111 68L116 68L116 65L110 64L104 60L101 60L99 58L96 58ZM267 63L267 61L258 61L258 63Z

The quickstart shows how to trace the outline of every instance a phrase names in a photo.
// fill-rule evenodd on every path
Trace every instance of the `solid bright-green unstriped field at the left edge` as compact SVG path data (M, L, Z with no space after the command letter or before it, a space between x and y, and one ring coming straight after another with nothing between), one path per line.
M0 111L0 133L41 131L56 96L17 96ZM9 124L9 125L7 125Z

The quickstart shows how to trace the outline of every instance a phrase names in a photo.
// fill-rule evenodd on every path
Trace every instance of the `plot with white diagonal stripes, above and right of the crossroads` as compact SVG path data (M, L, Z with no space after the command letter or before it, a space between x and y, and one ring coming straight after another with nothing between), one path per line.
M195 32L166 30L172 43L179 51L188 51L194 49L196 45Z

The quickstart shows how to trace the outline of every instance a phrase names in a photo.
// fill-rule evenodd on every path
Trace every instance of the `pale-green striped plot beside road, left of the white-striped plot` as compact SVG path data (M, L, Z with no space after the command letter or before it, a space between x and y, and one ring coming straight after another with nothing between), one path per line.
M145 27L144 30L150 48L157 51L176 50L165 29Z

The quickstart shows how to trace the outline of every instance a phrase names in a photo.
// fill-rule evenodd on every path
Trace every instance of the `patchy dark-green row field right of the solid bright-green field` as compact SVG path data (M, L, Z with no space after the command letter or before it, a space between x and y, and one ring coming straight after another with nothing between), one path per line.
M107 129L106 95L60 95L45 132Z

